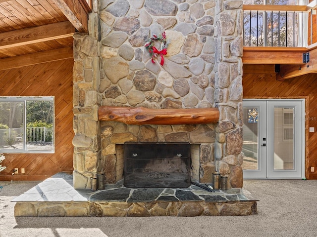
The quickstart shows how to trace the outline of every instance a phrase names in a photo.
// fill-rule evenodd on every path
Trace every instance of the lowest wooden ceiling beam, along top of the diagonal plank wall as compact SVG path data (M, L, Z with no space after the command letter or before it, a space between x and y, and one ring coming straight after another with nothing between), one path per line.
M73 49L60 48L45 52L32 53L11 58L0 59L0 70L19 68L45 62L73 58Z

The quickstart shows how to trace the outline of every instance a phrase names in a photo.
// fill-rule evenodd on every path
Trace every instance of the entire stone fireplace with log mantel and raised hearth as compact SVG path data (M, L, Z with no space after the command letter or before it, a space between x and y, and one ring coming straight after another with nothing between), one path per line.
M15 216L256 214L242 189L242 0L93 8L89 35L74 36L73 175L16 198ZM163 34L167 53L152 57L145 44ZM215 171L227 190L206 190Z

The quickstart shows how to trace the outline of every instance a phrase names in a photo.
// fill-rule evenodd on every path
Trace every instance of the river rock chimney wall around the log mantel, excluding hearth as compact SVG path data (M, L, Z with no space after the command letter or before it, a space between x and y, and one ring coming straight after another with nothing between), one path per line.
M74 188L106 173L116 182L116 144L201 144L200 182L218 171L242 188L242 0L93 0L89 35L74 36ZM144 47L165 32L167 54ZM159 43L159 41L155 41ZM160 44L156 46L161 49ZM217 124L127 125L98 107L219 109Z

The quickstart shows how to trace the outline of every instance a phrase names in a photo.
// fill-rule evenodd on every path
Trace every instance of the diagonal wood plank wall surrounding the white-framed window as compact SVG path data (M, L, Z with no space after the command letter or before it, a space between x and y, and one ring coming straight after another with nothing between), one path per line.
M0 71L0 96L55 96L55 153L5 154L0 180L44 180L73 170L73 65L67 59Z

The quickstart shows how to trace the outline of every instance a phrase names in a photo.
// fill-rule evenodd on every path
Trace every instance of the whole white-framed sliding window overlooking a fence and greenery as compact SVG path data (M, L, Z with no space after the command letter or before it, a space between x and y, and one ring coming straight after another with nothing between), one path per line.
M0 153L54 152L54 98L0 97Z

